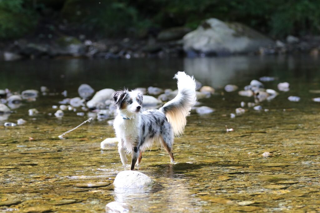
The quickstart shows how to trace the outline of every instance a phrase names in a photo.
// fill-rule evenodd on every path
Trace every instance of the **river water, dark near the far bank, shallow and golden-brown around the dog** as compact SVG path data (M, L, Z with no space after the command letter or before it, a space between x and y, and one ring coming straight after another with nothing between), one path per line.
M112 201L131 205L132 212L317 212L320 211L320 62L308 56L226 57L148 60L35 60L2 62L0 89L12 91L47 86L57 95L40 95L23 102L0 121L0 211L103 212ZM140 191L119 191L112 186L124 170L116 146L100 150L100 142L114 137L108 120L93 120L59 140L90 114L66 111L62 118L52 105L77 96L82 83L96 91L123 86L176 89L174 73L185 70L216 89L199 100L215 109L188 118L184 135L175 139L177 164L160 147L146 151L138 171L156 184ZM235 84L242 90L251 80L277 90L290 83L263 110L247 106L242 115L230 113L253 97L226 92ZM290 102L289 96L299 96ZM39 114L28 116L28 109ZM267 109L266 111L264 109ZM79 109L77 112L82 112ZM5 127L4 122L27 121ZM226 127L234 131L226 132ZM268 157L262 154L269 152ZM129 167L125 168L129 169Z

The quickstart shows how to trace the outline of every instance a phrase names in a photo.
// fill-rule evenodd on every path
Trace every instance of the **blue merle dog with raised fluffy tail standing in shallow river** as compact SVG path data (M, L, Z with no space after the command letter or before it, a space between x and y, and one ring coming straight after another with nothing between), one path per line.
M175 163L173 139L182 135L186 117L196 103L196 82L185 72L178 72L174 79L178 80L178 95L158 110L143 111L143 93L139 89L118 90L111 96L117 110L113 127L119 141L118 151L124 166L128 161L126 153L132 153L130 170L140 164L142 152L154 141L160 142Z

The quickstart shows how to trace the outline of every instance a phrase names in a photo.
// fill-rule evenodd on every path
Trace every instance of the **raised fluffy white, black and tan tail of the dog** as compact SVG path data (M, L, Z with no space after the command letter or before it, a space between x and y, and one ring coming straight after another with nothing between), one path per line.
M187 124L186 117L196 103L196 82L193 76L190 77L185 72L178 72L174 79L178 80L178 95L159 110L165 114L174 134L179 137Z

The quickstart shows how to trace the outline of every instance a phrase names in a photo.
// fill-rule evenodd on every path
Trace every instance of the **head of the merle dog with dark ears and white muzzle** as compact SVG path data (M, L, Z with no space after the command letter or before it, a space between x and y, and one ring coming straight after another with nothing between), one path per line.
M139 89L118 90L111 96L111 100L118 110L126 110L131 113L138 113L142 108L143 93Z

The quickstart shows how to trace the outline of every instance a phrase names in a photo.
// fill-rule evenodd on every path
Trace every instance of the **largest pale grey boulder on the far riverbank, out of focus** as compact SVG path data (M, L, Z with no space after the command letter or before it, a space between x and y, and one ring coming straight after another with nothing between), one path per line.
M183 49L204 54L237 54L255 52L274 41L240 23L207 19L196 30L183 37Z

